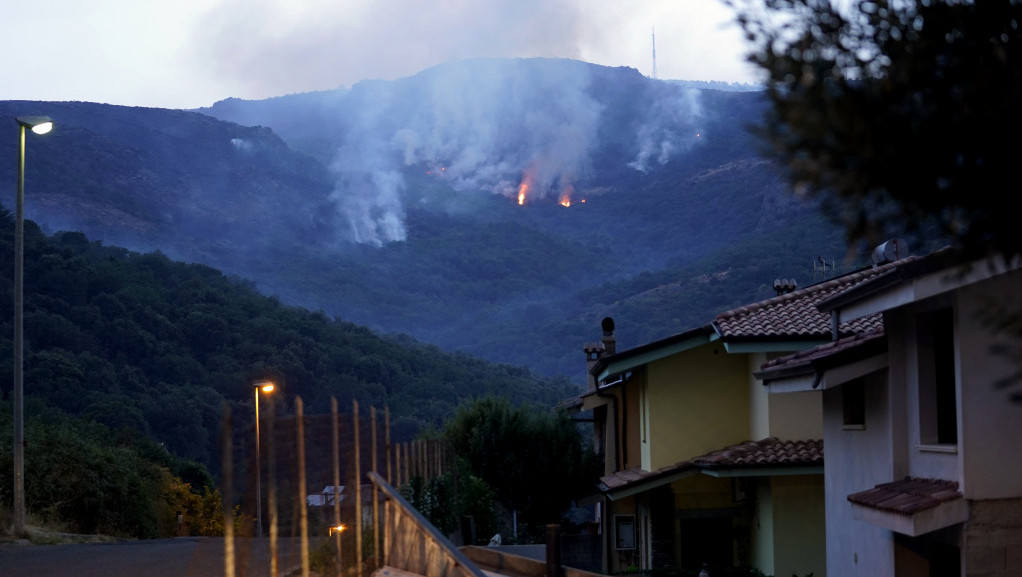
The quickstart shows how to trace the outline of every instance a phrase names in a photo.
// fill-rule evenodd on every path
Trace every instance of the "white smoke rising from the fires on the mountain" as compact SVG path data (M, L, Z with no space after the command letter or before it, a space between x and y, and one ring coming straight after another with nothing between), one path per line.
M570 60L469 60L353 87L332 165L352 238L377 246L407 238L409 166L443 170L445 184L465 193L516 198L527 182L528 201L570 194L592 173L606 112L592 71ZM682 127L699 113L695 92L658 102L636 129L631 165L645 172L690 146Z

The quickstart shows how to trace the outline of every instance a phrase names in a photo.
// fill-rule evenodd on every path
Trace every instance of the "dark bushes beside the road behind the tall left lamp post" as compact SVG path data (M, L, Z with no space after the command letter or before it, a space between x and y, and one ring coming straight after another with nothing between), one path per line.
M11 405L0 402L0 460L12 459ZM138 436L64 415L26 424L26 501L33 521L75 533L120 537L174 536L177 512L197 531L216 521L202 510L213 487L204 469ZM0 519L9 507L13 471L0 468Z

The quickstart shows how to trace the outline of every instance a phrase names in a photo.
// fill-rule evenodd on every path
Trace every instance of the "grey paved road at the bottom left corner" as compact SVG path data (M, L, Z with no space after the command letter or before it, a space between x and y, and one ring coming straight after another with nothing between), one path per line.
M236 577L270 575L269 539L237 539ZM298 547L279 543L279 574L300 568ZM0 577L215 577L224 575L224 539L177 537L145 541L0 547Z

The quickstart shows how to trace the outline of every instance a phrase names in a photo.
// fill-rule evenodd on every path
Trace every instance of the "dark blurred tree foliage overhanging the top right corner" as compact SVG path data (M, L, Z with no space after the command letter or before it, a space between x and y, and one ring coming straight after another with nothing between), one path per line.
M761 134L849 240L1022 249L1022 3L725 0L766 75Z

